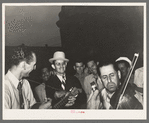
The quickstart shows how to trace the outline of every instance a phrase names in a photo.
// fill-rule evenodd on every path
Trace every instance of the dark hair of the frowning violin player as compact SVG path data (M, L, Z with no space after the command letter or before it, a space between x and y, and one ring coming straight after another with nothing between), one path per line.
M110 64L113 65L113 68L114 68L115 71L118 71L118 70L119 70L118 67L117 67L117 64L116 64L116 62L115 62L114 60L104 60L104 61L101 61L101 62L99 63L99 65L97 66L97 72L98 72L98 74L100 75L100 70L99 70L99 68L101 68L101 67L103 67L103 66L110 65Z

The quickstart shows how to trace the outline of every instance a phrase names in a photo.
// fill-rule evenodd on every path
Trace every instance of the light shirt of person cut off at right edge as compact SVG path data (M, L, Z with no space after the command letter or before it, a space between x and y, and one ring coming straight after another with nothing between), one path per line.
M138 68L134 74L134 84L137 85L139 88L143 88L144 79L143 79L143 67ZM136 94L135 97L139 100L139 102L143 105L143 93L138 92L135 90Z

